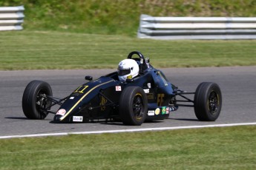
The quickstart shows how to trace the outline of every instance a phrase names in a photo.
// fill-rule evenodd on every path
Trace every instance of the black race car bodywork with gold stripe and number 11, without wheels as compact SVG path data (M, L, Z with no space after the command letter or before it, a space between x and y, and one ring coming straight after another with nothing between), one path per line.
M178 108L171 103L175 101L176 87L171 85L163 72L154 69L140 52L132 52L128 58L134 54L140 57L134 58L140 62L140 74L136 78L122 82L117 72L112 72L79 86L59 108L65 109L66 114L55 115L54 120L72 122L73 116L82 116L82 121L118 118L119 98L127 86L140 86L144 89L148 98L148 120L168 118L169 112Z

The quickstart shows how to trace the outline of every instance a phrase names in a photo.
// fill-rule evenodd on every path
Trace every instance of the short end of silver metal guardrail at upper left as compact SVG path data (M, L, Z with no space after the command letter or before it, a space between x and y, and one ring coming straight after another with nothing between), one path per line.
M0 7L0 31L22 30L24 7Z

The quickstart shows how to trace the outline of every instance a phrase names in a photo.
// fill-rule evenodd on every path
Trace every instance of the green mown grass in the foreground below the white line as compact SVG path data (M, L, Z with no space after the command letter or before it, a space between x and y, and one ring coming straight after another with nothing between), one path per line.
M0 140L0 169L256 169L256 126Z

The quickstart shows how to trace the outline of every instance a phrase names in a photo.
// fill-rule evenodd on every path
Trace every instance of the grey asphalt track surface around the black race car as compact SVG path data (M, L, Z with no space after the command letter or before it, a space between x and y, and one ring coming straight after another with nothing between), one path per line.
M198 121L194 109L180 107L168 119L142 126L124 126L119 122L52 123L53 115L45 120L28 120L22 112L22 95L30 81L47 81L53 96L63 98L85 83L85 75L99 78L114 69L101 70L36 70L0 71L0 137L37 135L62 132L92 132L102 130L145 129L176 126L203 126L228 123L256 122L256 67L207 67L162 69L166 77L188 92L194 92L203 81L219 84L223 95L220 117L214 122ZM191 98L193 98L191 96Z

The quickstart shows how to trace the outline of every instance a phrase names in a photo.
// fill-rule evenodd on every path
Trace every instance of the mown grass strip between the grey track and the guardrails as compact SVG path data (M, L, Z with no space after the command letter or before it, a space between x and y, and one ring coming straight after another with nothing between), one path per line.
M0 70L116 68L134 50L163 67L256 65L256 41L157 41L54 31L0 33Z

